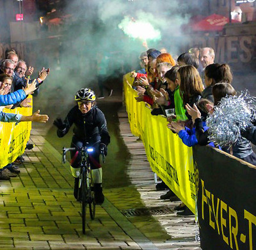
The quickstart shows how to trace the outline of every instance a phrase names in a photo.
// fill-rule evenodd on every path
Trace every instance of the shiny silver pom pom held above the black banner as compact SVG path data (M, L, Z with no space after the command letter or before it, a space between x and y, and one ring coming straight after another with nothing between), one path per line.
M209 115L206 124L209 127L209 139L215 145L231 145L241 137L241 130L252 126L256 114L256 98L248 91L239 96L227 96L221 99L220 105L214 107L214 113Z

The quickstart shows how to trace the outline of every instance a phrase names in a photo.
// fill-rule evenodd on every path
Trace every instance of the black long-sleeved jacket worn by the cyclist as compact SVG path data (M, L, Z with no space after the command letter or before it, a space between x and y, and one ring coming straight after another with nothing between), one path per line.
M74 123L73 133L78 140L88 143L101 142L106 145L110 142L110 136L108 133L107 122L102 111L93 106L92 109L86 113L82 114L76 105L69 112L65 118L64 124L65 129L57 130L57 135L63 137L66 135Z

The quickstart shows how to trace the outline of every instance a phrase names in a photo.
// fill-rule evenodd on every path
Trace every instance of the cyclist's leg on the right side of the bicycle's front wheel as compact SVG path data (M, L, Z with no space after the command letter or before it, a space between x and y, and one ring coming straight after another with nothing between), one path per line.
M99 143L93 145L94 151L90 154L90 165L92 171L92 179L94 183L94 194L95 202L98 205L101 205L104 202L104 195L102 192L102 168L100 166L100 152L99 152Z

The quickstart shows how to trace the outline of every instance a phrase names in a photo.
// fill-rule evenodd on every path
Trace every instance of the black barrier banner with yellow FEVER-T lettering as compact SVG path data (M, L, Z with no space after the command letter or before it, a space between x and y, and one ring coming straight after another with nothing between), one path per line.
M203 250L256 249L256 167L211 147L193 148Z

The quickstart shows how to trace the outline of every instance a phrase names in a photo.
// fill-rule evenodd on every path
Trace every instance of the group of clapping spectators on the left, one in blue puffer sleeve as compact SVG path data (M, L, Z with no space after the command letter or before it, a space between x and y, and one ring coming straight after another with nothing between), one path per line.
M37 96L39 94L39 85L47 78L50 70L42 68L38 73L38 77L32 79L34 68L26 65L26 62L19 58L15 50L6 50L5 58L1 61L0 66L0 121L1 122L18 122L48 121L47 115L40 115L37 110L33 115L20 115L14 113L3 112L3 108L15 109L18 107L31 107L31 98L29 94ZM6 132L7 136L11 136L12 131ZM5 136L5 134L4 134ZM5 146L5 145L4 145ZM8 145L6 145L7 147ZM26 149L32 149L33 144L27 142ZM3 152L1 152L3 154ZM22 156L19 156L13 163L10 163L0 169L0 180L10 180L10 177L17 177L20 173L19 165L24 161Z

